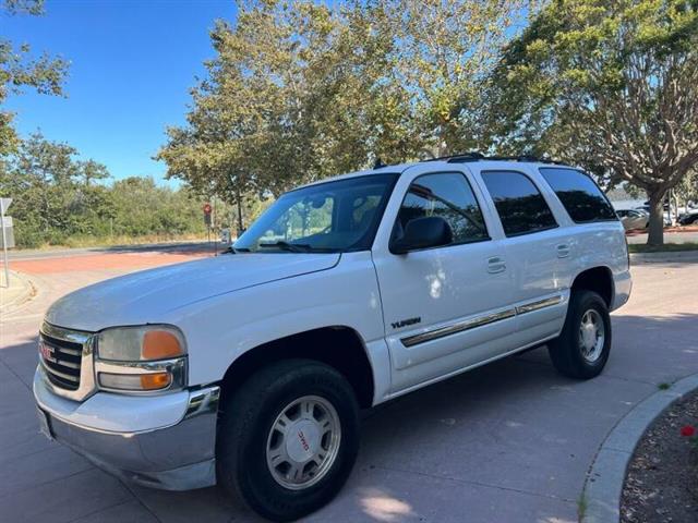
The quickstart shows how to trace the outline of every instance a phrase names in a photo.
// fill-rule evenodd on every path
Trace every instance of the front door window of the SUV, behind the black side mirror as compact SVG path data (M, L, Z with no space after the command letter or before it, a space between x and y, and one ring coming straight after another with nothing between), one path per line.
M410 220L426 216L440 216L448 222L454 244L490 238L478 200L462 174L425 174L414 180L400 207L395 236L402 234Z

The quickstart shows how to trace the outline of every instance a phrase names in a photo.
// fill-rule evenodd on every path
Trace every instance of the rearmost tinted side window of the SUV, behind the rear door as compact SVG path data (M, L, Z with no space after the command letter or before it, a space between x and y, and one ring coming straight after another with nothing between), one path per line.
M540 171L576 223L616 219L609 199L583 172L553 167Z

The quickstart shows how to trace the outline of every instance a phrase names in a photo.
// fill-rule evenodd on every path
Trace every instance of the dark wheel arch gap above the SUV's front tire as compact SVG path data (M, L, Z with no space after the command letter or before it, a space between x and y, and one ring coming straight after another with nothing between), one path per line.
M365 343L357 330L344 325L285 336L245 351L226 370L221 393L234 393L256 370L290 358L314 360L335 368L351 385L359 405L372 406L375 380Z

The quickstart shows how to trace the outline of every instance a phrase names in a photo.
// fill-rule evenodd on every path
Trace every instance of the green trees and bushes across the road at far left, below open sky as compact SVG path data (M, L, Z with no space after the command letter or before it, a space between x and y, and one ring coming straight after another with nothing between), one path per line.
M106 185L109 173L79 160L67 144L33 134L0 163L0 194L12 196L19 246L67 244L75 238L203 234L201 198L148 178ZM221 209L226 211L226 209Z

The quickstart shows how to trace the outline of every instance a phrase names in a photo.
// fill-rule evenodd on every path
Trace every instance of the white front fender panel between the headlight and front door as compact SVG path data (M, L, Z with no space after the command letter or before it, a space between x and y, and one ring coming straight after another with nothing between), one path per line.
M345 254L329 270L198 302L181 309L172 321L186 337L191 385L221 379L236 358L264 343L334 326L359 333L376 389L389 382L383 312L370 253Z

